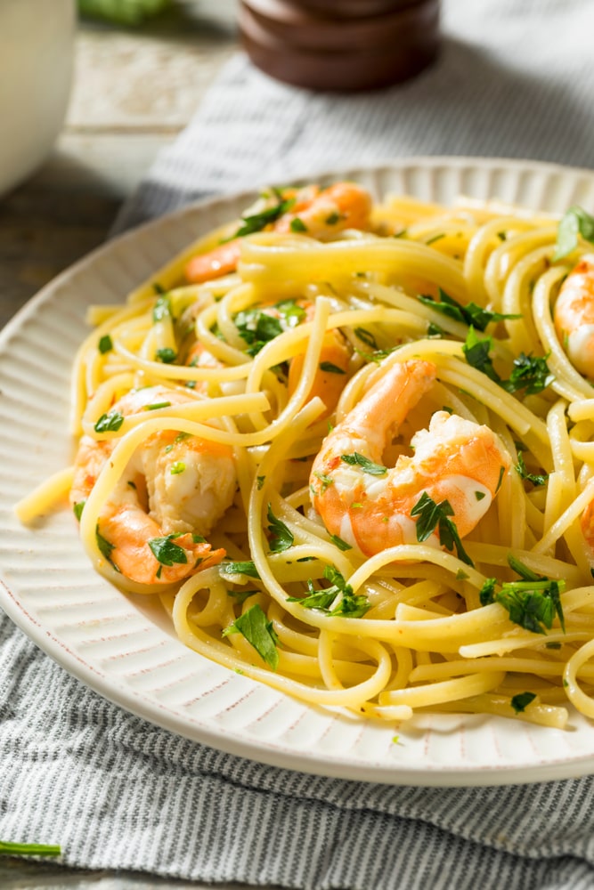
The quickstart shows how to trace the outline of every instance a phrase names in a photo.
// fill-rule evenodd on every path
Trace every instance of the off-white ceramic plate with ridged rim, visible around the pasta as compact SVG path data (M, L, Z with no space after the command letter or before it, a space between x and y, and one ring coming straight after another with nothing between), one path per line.
M594 206L594 173L522 161L398 160L343 171L387 191L451 202L460 193L563 212ZM336 174L335 177L337 178ZM134 714L189 739L264 763L348 779L487 785L594 772L594 724L565 732L491 716L419 716L398 732L311 708L219 667L179 643L164 614L94 573L69 511L24 529L12 506L69 464L70 365L89 303L128 291L251 196L191 206L77 263L0 336L0 604L62 667Z

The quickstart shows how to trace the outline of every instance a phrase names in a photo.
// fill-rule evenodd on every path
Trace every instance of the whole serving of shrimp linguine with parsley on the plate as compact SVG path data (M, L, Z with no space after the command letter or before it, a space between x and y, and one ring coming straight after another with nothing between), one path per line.
M20 518L70 490L97 570L301 700L594 716L594 373L553 310L589 287L573 213L271 190L94 307L77 462Z

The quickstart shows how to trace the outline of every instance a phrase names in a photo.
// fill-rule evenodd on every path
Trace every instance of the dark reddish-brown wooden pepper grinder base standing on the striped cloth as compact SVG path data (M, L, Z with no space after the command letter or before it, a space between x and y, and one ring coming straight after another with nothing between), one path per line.
M258 68L313 90L399 83L439 47L439 0L241 0L239 23Z

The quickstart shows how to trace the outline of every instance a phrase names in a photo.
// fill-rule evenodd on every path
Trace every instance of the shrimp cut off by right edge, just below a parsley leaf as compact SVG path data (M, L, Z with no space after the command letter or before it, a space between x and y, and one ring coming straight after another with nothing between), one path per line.
M581 374L594 378L594 256L585 256L564 281L554 310L557 336Z

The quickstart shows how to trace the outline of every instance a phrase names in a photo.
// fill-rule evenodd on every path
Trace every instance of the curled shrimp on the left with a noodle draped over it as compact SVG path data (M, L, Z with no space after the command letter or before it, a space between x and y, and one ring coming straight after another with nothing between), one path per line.
M165 386L127 392L112 410L137 414L164 401L183 404L191 396ZM115 441L84 435L75 461L70 502L83 509ZM175 431L148 437L103 506L97 534L110 562L141 584L172 584L216 565L225 551L205 536L232 504L236 473L232 449Z

